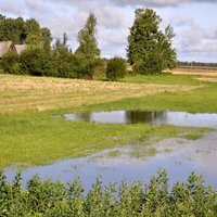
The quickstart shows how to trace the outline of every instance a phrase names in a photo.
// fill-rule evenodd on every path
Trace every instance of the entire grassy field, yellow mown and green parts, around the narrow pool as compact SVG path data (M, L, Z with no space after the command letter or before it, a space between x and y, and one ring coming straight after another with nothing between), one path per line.
M191 128L100 125L53 116L102 110L216 113L216 90L217 84L192 76L127 77L124 82L103 82L0 75L0 167L49 164L117 145L145 144L153 137L197 135Z

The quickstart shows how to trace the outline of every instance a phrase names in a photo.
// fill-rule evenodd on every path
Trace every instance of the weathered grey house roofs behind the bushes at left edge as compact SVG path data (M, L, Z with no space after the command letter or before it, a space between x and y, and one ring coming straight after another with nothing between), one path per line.
M13 41L0 41L0 59L8 52L21 52L25 49L25 44L14 44Z

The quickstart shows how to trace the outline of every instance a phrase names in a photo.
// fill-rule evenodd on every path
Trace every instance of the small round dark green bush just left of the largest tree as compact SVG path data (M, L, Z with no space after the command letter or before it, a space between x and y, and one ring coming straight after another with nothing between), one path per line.
M107 62L106 78L115 81L126 75L126 63L122 58L113 58Z

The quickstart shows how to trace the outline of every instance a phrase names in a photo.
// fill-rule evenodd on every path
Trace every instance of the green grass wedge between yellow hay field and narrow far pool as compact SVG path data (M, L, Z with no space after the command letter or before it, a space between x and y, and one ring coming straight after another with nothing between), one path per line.
M188 92L164 92L133 99L115 101L112 104L100 103L94 110L154 110L154 111L187 111L191 113L217 113L217 84L191 90ZM80 108L93 110L92 106Z

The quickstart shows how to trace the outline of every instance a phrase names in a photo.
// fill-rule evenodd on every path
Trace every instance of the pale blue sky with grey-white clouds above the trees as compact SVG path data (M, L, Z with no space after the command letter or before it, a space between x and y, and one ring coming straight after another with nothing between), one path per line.
M162 28L174 27L174 47L180 61L217 62L217 0L0 0L8 17L34 17L50 28L53 38L76 36L90 12L98 18L102 56L126 56L127 36L137 8L152 8L163 18Z

